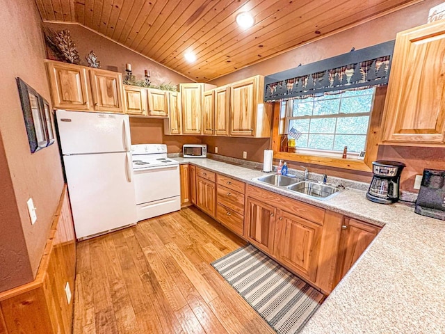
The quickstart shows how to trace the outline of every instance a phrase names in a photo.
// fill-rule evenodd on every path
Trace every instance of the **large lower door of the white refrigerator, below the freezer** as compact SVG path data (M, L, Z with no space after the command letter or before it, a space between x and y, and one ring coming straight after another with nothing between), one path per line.
M134 224L131 154L64 156L77 239Z

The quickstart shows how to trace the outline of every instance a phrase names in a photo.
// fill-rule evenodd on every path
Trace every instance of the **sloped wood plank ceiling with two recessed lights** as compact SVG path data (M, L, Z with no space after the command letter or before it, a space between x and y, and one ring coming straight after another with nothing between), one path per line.
M203 82L419 1L35 0L44 20L79 22ZM246 30L235 21L244 11Z

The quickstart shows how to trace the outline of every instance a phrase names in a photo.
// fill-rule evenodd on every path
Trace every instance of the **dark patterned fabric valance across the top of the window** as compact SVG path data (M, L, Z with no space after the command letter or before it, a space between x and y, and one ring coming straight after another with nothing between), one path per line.
M350 51L265 78L265 102L302 99L309 96L363 89L388 84L394 40Z

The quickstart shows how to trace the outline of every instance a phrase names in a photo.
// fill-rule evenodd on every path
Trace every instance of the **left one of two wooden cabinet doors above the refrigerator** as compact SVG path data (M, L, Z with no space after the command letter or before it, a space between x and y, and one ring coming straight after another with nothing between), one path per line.
M85 67L47 62L54 108L88 111L88 72Z

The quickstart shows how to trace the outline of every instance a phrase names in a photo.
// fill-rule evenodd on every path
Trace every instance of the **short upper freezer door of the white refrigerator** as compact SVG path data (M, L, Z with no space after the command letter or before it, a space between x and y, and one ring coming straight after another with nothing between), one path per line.
M129 152L128 115L56 111L63 154Z

